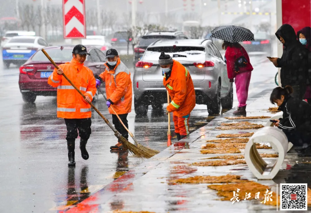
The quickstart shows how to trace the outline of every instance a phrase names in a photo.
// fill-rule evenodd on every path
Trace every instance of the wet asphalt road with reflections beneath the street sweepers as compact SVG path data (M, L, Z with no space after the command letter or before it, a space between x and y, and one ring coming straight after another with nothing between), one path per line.
M253 60L255 64L264 58L265 55L254 55L251 62ZM264 90L265 85L273 82L271 79L276 72L267 62L256 67L250 94ZM92 134L87 144L90 158L87 161L81 158L78 137L76 167L68 168L66 125L63 119L56 118L56 97L38 96L34 104L24 103L18 75L18 68L12 65L11 69L0 68L0 212L61 212L61 206L87 198L142 162L127 153L110 153L109 147L117 139L93 111ZM95 106L112 121L104 98L100 97ZM160 151L167 147L165 107L156 112L150 106L145 118L137 117L132 109L128 116L129 129L142 145ZM211 119L206 106L197 105L190 118L191 130Z

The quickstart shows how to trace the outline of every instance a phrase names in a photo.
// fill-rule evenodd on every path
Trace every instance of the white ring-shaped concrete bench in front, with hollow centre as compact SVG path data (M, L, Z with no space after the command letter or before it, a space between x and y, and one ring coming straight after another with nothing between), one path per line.
M279 152L279 157L272 166L268 166L256 149L255 144L261 142L269 142ZM275 127L263 127L255 132L247 142L244 150L244 158L256 178L273 179L281 168L287 150L288 141L282 130Z

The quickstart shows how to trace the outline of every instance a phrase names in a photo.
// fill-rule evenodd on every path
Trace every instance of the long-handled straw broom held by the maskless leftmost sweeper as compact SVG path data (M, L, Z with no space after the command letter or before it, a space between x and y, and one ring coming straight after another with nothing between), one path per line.
M57 66L57 64L52 60L52 58L49 56L49 54L47 52L45 52L44 49L42 49L42 52L44 53L44 55L49 59L49 61L54 65L54 67L56 67L56 69L59 69L59 67ZM63 76L67 79L67 81L78 91L78 93L85 98L85 95L77 88L77 86L75 86L72 81L70 81L70 79L63 73ZM124 137L122 137L122 135L111 125L111 123L109 123L109 121L100 113L100 111L98 111L98 109L96 109L96 107L92 104L89 103L91 105L91 107L93 107L93 109L100 115L101 118L104 119L105 123L112 129L112 131L114 131L114 135L118 138L119 141L121 141L121 143L123 144L124 148L129 150L132 154L134 154L137 157L142 157L142 158L150 158L150 155L144 153L143 150L139 149L138 147L136 147L134 144L132 144L131 142L129 142L128 140L126 140Z

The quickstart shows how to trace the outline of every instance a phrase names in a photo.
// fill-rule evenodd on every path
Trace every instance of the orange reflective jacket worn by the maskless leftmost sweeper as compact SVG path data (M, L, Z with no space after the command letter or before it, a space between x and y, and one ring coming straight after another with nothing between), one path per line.
M96 93L96 81L93 72L72 58L71 62L58 66L78 89L91 100ZM49 76L48 84L57 87L57 117L58 118L91 118L91 105L62 75L58 75L56 68Z

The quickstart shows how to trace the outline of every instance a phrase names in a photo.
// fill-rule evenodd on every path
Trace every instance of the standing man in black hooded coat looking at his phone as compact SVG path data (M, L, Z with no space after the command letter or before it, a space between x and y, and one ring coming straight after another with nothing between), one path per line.
M291 25L282 25L275 35L284 46L283 55L281 58L269 60L275 67L281 67L282 86L292 86L292 96L302 100L306 91L308 52L297 40L295 30Z

